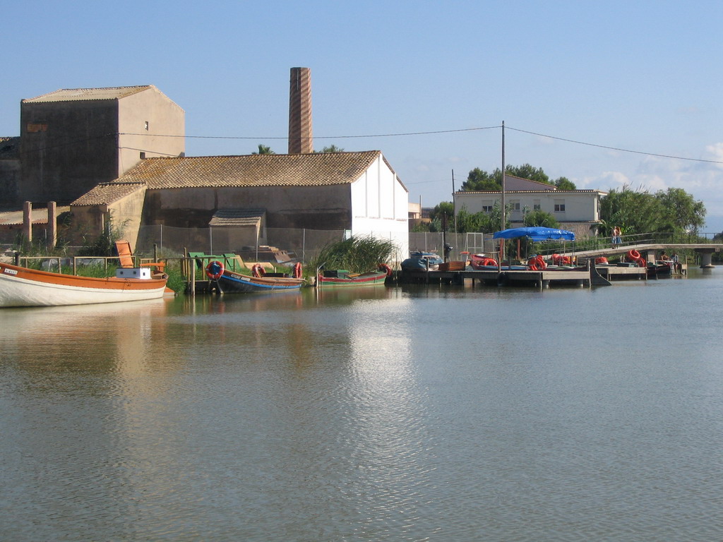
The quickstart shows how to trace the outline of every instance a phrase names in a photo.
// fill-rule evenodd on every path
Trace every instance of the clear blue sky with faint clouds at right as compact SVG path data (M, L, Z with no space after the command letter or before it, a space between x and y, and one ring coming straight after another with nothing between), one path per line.
M4 2L0 137L20 100L155 85L189 156L287 151L292 67L315 149L381 150L411 202L529 163L578 189L685 189L723 231L719 0Z

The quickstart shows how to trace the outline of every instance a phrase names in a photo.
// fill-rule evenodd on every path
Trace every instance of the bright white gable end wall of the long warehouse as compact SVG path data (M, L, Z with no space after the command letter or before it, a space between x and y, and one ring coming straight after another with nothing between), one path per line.
M397 262L408 257L408 192L381 158L351 184L351 234L393 241Z

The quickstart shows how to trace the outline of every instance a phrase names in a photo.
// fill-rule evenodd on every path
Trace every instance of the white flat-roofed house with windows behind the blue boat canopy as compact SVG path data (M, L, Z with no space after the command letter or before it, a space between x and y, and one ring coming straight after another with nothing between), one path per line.
M501 205L502 192L455 192L455 210L472 214L492 212ZM523 225L531 211L544 211L555 217L560 226L578 238L596 236L600 223L600 199L607 192L599 190L558 190L556 186L505 175L505 207L513 228Z

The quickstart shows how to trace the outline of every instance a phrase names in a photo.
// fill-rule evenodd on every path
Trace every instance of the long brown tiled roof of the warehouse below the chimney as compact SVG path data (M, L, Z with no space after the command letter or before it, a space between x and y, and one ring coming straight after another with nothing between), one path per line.
M364 152L147 158L119 181L149 190L228 186L331 186L356 181L381 156Z

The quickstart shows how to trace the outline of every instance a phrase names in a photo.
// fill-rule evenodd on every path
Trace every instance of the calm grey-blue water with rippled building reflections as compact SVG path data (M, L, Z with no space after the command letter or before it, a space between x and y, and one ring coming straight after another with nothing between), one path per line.
M720 541L723 269L0 311L3 541Z

